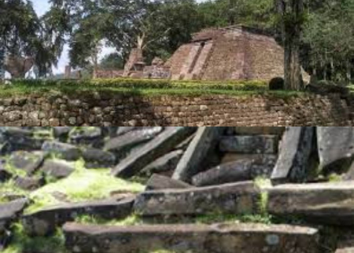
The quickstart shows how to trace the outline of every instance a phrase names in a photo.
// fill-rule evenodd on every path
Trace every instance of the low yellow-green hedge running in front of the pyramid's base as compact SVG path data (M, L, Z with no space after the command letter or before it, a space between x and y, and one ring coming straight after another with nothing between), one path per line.
M191 90L228 90L228 91L265 91L265 81L174 81L164 79L87 79L87 80L12 80L13 87L31 88L127 88L127 89L191 89Z

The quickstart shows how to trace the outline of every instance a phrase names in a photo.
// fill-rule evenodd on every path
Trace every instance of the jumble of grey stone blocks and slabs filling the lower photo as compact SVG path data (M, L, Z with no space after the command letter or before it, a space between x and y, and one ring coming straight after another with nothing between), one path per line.
M111 168L115 177L151 177L138 195L64 201L25 215L28 199L8 193L10 200L0 204L0 247L10 240L11 223L21 221L29 236L47 236L61 227L69 252L353 252L352 127L55 127L54 140L43 132L34 137L38 129L0 128L1 151L27 172L13 179L20 188L45 184L33 182L38 172L65 178L74 171L50 160L48 152L63 160L81 157L87 169ZM0 162L0 182L13 177L5 162ZM270 182L257 182L259 177ZM264 212L278 223L190 222L203 215ZM73 222L77 215L109 221L132 213L146 223ZM329 228L335 234L327 234Z

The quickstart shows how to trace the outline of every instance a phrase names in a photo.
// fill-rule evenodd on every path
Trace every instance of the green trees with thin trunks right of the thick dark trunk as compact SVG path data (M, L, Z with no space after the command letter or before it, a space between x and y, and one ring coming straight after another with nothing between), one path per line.
M354 59L353 0L309 2L303 43L316 79L349 82Z

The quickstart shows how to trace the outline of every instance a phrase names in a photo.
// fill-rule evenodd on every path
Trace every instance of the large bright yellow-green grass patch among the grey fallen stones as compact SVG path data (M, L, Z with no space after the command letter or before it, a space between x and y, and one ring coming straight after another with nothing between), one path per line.
M29 194L33 204L25 213L33 213L42 208L60 204L52 193L60 192L66 195L72 202L95 200L109 197L112 191L126 191L138 193L144 190L144 186L125 181L110 175L109 169L87 170L83 166L83 160L75 162L75 171L67 178L47 184Z

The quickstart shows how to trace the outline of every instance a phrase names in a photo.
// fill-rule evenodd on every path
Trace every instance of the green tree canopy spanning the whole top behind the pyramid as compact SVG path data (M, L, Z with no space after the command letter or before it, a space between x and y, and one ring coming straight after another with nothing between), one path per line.
M282 31L292 34L279 24L288 22L294 10L277 12L277 3L291 1L50 0L50 10L38 17L30 0L3 0L0 55L35 57L39 75L57 64L65 44L73 67L99 66L105 46L116 49L104 59L114 66L121 66L133 47L141 48L150 63L155 56L167 59L205 27L244 24L267 29L277 39ZM298 25L296 44L304 69L319 79L352 79L354 0L303 0L300 12L301 19L290 19L287 27ZM278 41L286 49L284 36Z

